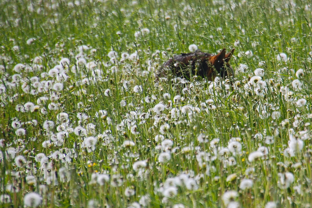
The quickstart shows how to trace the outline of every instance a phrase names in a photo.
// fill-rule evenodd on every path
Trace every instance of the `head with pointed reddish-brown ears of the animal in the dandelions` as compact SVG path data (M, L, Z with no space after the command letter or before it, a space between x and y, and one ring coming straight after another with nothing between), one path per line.
M213 66L221 77L234 77L234 71L231 65L228 63L234 53L235 48L233 48L229 53L225 52L223 48L220 53L213 55L208 58L209 63Z

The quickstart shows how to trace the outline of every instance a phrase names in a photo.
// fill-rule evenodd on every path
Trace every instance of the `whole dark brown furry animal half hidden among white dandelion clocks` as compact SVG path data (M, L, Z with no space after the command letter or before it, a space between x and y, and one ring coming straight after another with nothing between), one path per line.
M213 80L217 74L222 78L234 78L233 68L228 63L232 57L234 48L226 54L225 48L213 55L196 50L193 53L182 53L170 58L157 74L157 79L166 77L168 71L173 75L183 78L190 78L190 75L197 75L207 80Z

